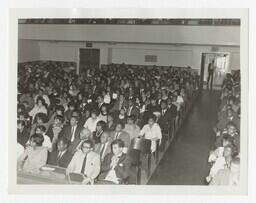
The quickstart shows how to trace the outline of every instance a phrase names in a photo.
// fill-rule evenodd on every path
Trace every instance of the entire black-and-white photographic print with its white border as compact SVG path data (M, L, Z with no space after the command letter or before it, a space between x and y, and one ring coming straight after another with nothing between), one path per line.
M247 192L248 10L61 10L10 15L13 193Z

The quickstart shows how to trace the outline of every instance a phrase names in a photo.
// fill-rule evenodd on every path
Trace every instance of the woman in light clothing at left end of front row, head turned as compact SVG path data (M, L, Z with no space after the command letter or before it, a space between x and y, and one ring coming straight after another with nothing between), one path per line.
M34 134L29 139L29 146L19 157L18 171L38 173L39 169L46 164L48 150L43 147L44 137L41 134Z

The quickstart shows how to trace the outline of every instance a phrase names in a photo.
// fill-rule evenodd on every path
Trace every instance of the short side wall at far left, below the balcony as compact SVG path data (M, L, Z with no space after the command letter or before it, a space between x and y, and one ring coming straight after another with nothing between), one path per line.
M18 40L18 62L40 60L40 47L37 41Z

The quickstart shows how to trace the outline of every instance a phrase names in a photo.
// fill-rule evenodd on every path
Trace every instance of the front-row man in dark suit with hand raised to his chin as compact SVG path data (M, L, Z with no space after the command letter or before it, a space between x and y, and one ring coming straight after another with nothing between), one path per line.
M115 184L125 183L130 174L131 161L123 153L124 142L120 139L111 143L112 152L107 154L101 165L100 181L109 181Z

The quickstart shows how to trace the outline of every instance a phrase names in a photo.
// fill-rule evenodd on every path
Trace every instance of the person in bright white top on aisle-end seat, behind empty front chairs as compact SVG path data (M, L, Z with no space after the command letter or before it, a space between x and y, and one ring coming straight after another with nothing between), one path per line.
M151 151L156 151L156 141L162 139L162 131L158 123L156 123L156 116L154 114L148 117L148 123L143 126L139 136L151 140Z

